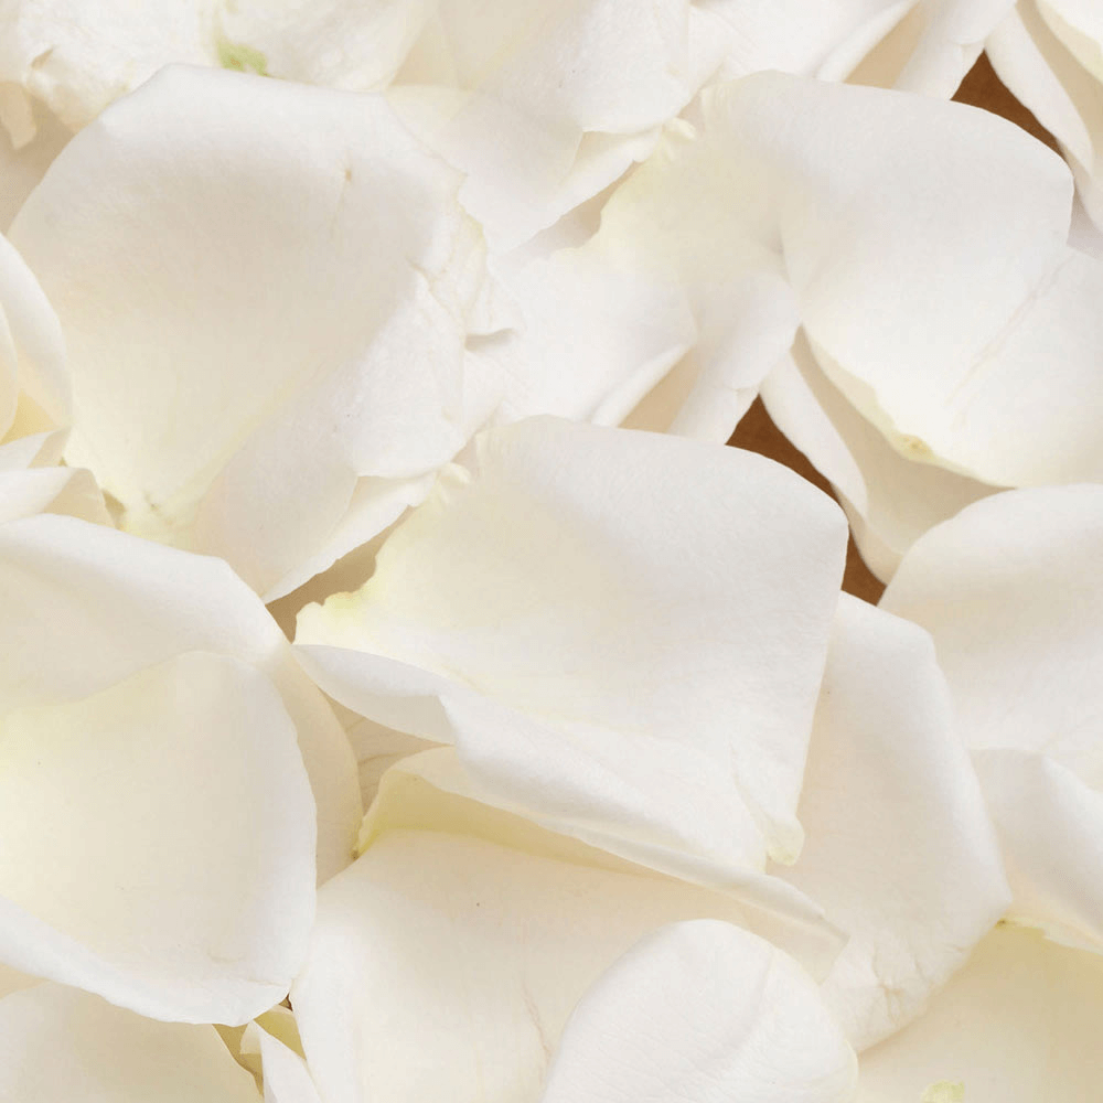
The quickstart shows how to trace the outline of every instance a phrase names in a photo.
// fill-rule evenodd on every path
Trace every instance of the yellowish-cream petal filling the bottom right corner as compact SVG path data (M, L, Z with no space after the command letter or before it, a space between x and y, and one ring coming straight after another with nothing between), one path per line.
M907 1030L861 1056L859 1103L1090 1100L1103 960L1003 927Z

